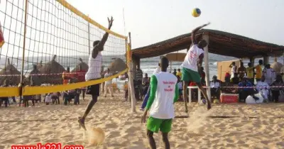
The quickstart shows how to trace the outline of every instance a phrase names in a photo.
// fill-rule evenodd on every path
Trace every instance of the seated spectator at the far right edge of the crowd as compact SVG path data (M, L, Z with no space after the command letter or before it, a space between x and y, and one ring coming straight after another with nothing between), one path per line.
M271 84L272 99L275 102L278 102L280 90L282 91L284 90L283 87L277 87L277 86L284 86L284 82L281 75L277 75L275 82Z

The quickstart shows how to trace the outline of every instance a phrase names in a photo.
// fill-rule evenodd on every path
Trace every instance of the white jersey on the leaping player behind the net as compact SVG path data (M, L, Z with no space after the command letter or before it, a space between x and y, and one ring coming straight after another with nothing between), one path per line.
M93 58L92 55L89 55L89 70L85 75L86 81L91 79L98 79L101 77L102 71L102 54L98 53L96 58Z

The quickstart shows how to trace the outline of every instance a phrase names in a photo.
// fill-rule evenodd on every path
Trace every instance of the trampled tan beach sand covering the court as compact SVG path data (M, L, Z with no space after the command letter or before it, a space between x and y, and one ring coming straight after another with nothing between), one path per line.
M84 113L88 100L79 106L36 104L35 107L11 105L0 108L0 149L11 145L62 143L84 148L148 148L146 124L141 114L131 114L130 103L118 97L99 97L90 112L87 128L102 128L102 145L89 146L77 117ZM89 99L89 96L87 96ZM196 103L189 105L190 118L175 118L169 134L171 148L284 148L284 104L214 104L207 111ZM176 116L187 116L182 102L175 104ZM232 116L218 118L207 116ZM234 117L235 116L235 117ZM163 147L155 134L158 148Z

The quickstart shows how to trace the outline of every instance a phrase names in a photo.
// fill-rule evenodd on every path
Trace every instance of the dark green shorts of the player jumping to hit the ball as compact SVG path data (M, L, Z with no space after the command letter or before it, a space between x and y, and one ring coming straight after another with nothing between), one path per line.
M200 83L200 74L193 70L182 68L182 81Z

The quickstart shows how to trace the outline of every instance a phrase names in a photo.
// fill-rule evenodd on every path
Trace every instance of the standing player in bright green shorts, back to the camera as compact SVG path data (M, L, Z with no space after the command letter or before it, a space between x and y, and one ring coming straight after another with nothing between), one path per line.
M147 138L152 149L156 148L153 133L161 132L165 148L170 148L168 133L170 132L173 118L175 117L174 103L178 101L178 78L167 72L169 61L161 57L160 70L151 77L151 92L146 110L141 117L141 123L146 122L148 110L150 117L147 120Z

